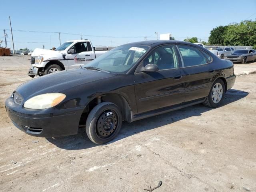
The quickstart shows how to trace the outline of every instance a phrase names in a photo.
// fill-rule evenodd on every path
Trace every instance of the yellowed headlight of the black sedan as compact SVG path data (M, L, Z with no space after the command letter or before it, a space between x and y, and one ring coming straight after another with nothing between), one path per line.
M46 93L34 96L24 103L25 108L29 109L47 109L54 107L66 98L63 93Z

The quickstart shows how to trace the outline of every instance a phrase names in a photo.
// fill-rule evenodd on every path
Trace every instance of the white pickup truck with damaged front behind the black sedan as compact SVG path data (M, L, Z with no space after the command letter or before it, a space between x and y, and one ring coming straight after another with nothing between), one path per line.
M42 76L53 72L79 68L101 56L111 48L96 50L90 40L72 40L63 43L56 50L36 48L31 55L32 67L28 76Z

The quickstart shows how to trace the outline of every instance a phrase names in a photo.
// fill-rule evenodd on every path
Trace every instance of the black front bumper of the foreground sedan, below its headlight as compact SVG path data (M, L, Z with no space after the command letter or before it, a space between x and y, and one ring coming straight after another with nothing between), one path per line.
M12 97L5 102L6 112L13 124L26 134L37 137L58 137L78 132L83 107L58 110L29 110L14 102ZM45 113L46 112L46 113Z

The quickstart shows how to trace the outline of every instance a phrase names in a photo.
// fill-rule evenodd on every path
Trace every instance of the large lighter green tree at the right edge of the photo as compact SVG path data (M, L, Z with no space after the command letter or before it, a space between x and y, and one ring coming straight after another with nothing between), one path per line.
M242 21L228 25L224 45L254 46L256 44L256 21Z

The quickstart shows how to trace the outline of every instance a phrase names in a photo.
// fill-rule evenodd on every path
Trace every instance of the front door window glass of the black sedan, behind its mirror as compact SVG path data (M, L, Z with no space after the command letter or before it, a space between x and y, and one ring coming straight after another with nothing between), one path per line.
M156 48L144 59L144 66L156 64L159 70L179 68L178 59L173 45Z

